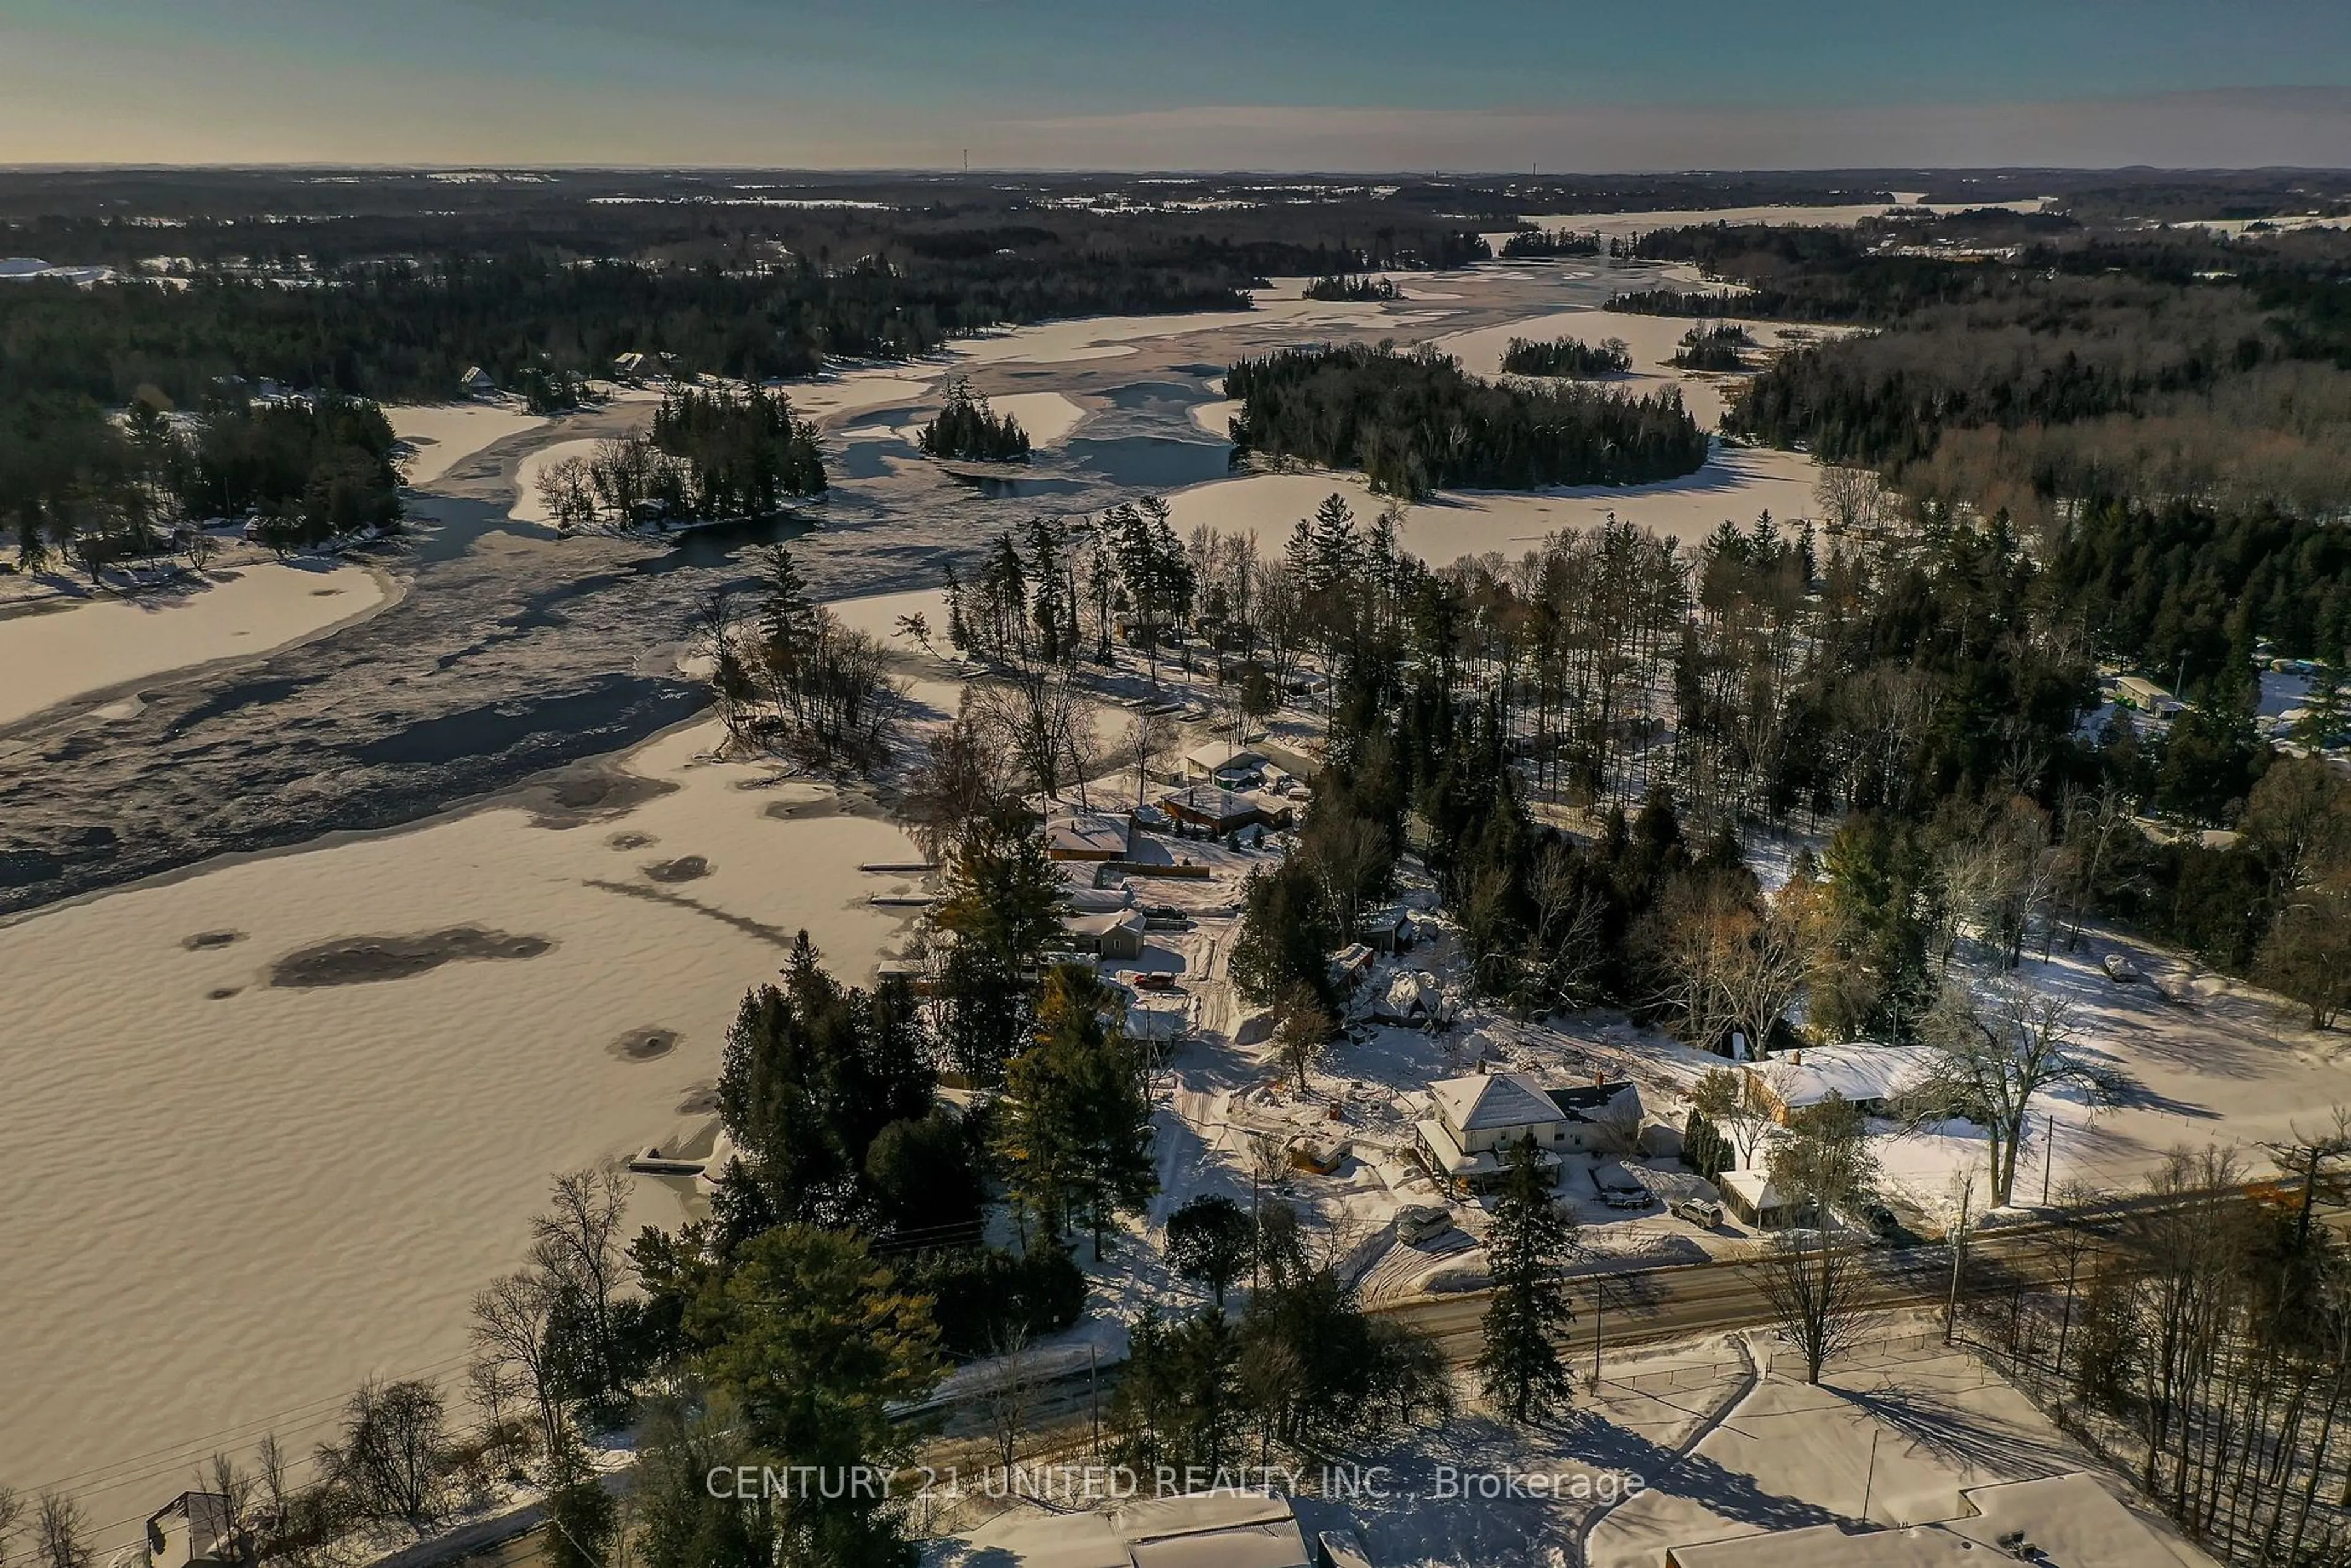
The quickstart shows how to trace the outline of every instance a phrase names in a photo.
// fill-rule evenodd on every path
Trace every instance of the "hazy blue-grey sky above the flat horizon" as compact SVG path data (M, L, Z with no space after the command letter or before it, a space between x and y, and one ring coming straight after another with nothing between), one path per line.
M2351 162L2351 5L0 0L0 162L962 146L1004 167Z

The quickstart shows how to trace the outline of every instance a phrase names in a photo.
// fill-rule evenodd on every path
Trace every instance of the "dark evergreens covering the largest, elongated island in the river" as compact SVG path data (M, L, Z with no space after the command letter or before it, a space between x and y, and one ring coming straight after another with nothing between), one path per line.
M1429 350L1293 348L1225 376L1232 440L1270 458L1361 468L1373 489L1648 484L1707 461L1679 393L1488 383Z

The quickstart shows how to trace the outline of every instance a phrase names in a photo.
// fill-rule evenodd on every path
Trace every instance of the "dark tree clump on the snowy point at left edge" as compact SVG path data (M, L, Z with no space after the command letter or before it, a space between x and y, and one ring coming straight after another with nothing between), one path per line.
M21 569L167 550L202 567L209 520L252 517L294 550L400 515L393 428L355 397L223 397L193 416L134 402L120 421L71 397L0 402L0 520Z

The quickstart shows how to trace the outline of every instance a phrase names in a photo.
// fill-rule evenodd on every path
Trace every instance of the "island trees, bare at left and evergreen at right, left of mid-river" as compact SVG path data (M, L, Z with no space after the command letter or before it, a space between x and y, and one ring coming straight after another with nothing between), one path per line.
M816 425L766 388L670 388L639 435L538 475L560 529L773 517L785 501L823 494Z

